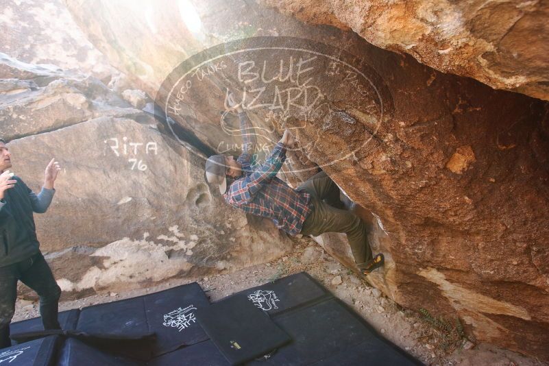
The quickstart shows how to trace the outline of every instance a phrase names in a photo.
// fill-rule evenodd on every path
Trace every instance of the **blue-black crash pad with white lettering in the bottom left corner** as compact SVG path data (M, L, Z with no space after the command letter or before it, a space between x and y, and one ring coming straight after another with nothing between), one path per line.
M0 350L0 365L51 366L60 339L55 336L36 339Z

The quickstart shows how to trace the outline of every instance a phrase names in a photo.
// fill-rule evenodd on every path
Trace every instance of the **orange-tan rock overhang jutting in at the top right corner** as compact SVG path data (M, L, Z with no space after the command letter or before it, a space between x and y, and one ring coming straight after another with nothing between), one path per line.
M259 0L439 71L549 100L548 1Z

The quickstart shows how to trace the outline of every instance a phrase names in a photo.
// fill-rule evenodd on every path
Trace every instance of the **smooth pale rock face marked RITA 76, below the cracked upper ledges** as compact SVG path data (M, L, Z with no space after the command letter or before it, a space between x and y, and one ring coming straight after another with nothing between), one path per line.
M62 164L51 208L36 222L64 291L237 269L291 247L272 223L250 225L213 196L193 156L154 124L101 117L9 147L14 171L34 189L53 152Z

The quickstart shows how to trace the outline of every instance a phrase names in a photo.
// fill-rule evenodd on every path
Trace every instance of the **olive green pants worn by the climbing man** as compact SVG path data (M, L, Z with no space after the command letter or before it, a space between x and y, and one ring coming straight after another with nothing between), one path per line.
M301 234L318 236L324 232L344 232L356 263L371 260L371 248L365 223L353 212L334 206L339 201L339 187L324 171L313 175L297 188L310 193L313 211L303 223ZM325 202L326 201L326 202Z

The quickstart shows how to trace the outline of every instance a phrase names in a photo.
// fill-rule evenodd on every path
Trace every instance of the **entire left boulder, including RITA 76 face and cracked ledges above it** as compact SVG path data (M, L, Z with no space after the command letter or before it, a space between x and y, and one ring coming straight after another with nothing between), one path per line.
M223 205L204 184L199 152L95 77L2 60L12 171L38 191L51 157L63 167L50 209L35 219L65 297L240 269L291 248L272 223Z

